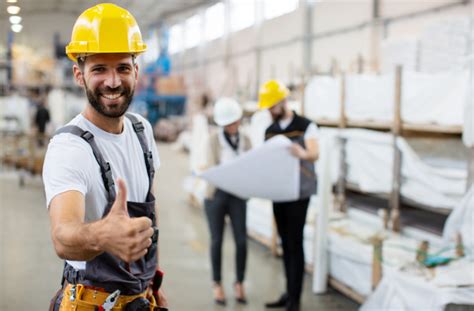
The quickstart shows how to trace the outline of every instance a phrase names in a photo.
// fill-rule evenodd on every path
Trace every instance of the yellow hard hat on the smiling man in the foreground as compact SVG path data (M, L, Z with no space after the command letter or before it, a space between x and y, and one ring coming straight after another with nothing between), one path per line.
M111 3L101 3L85 10L72 29L66 54L77 56L98 53L133 53L146 50L137 21L127 10Z

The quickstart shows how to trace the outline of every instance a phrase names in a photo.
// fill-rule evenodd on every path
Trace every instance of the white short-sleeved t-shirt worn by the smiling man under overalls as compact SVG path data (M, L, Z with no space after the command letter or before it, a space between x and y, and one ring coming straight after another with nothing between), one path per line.
M142 116L134 114L145 127L148 148L152 151L155 170L160 160L150 123ZM133 125L124 118L125 126L121 134L111 134L101 130L82 114L77 115L68 125L76 125L94 135L95 142L106 162L110 163L114 181L122 178L127 187L127 201L143 202L148 191L148 175L143 150ZM43 167L43 182L46 204L58 194L76 190L85 197L85 222L102 218L107 204L107 192L92 148L82 138L68 133L56 135L46 152ZM117 191L117 185L115 185ZM85 269L85 262L68 261L76 269Z

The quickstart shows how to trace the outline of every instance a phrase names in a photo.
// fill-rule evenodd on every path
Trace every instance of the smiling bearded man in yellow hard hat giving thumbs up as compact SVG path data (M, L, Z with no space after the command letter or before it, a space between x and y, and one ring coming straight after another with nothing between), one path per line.
M82 13L66 47L88 103L57 131L43 169L51 237L65 260L52 310L166 310L151 192L158 151L150 124L126 113L145 50L134 17L113 4Z

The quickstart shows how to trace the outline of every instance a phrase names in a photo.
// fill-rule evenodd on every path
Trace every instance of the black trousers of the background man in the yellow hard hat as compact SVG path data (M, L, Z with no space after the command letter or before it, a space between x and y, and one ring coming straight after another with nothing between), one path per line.
M273 214L283 248L286 290L290 301L299 303L303 289L304 250L303 230L309 198L299 201L273 203Z

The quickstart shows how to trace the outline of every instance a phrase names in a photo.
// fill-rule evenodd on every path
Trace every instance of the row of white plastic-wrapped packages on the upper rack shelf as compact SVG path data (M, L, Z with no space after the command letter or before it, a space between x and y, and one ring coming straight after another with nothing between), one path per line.
M472 101L468 93L469 82L467 70L436 74L405 70L401 90L402 120L415 124L462 125L467 98ZM340 87L339 78L313 77L305 89L305 115L313 119L338 120ZM393 121L393 73L348 75L345 92L349 120L387 124Z

